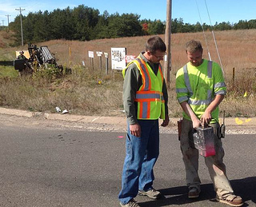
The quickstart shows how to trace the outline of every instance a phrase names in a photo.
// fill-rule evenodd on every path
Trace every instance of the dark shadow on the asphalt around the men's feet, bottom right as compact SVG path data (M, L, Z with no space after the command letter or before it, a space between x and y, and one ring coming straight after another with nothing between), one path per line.
M248 206L246 201L252 201L256 204L256 177L246 177L244 179L230 181L234 193L241 196L245 204ZM187 187L174 187L170 189L159 189L163 197L156 201L141 202L142 207L156 207L166 205L185 205L194 203L197 201L215 201L214 186L212 184L201 185L200 197L195 199L189 199L187 197Z

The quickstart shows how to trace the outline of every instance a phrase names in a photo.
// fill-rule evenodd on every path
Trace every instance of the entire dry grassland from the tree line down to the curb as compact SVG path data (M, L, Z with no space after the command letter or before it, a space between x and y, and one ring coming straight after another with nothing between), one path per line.
M1 35L1 34L0 34ZM222 66L225 71L228 94L220 105L227 116L256 116L256 30L228 30L214 32ZM160 35L164 39L164 35ZM35 75L30 78L1 78L0 105L19 109L54 112L55 106L69 109L72 113L86 115L120 115L122 110L122 77L110 69L105 75L105 58L102 58L103 70L99 70L99 58L96 51L110 54L111 47L126 47L127 54L138 55L144 50L149 36L134 38L101 39L90 42L54 40L32 42L38 46L48 46L55 54L58 64L72 68L73 73L61 79L49 81ZM173 34L171 37L171 60L169 105L170 116L181 114L174 93L176 71L186 62L185 43L197 39L204 47L204 58L208 58L207 46L214 62L219 62L211 32L206 32L206 41L202 33ZM71 55L70 55L71 49ZM14 59L15 50L23 47L1 48L0 61ZM88 51L94 51L94 70L90 68ZM82 61L86 66L82 66ZM0 66L0 72L2 66ZM234 74L233 74L234 71ZM14 90L15 89L15 90ZM246 93L246 96L245 96Z

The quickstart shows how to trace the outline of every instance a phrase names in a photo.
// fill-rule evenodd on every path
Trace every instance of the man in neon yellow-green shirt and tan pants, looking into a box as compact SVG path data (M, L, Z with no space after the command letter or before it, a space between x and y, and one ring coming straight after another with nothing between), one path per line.
M200 179L198 177L198 149L190 145L193 129L205 125L214 128L215 155L205 157L206 166L214 183L216 199L231 206L243 205L242 198L234 195L230 181L226 177L223 163L224 150L219 138L218 105L226 94L222 69L216 62L202 58L202 45L191 40L186 43L189 60L176 74L176 93L183 109L180 145L186 167L188 197L199 197Z

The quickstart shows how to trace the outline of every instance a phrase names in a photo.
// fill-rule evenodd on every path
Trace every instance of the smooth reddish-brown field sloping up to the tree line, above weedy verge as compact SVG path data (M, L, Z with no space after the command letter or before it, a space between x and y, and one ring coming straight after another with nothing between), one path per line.
M232 73L234 67L237 71L255 68L256 30L215 31L214 35L218 44L222 65L227 74ZM160 37L164 39L164 35L160 35ZM89 50L94 52L103 51L110 54L111 47L126 47L127 54L137 55L144 49L147 38L149 36L102 39L90 42L55 40L41 44L49 46L50 50L56 54L56 57L62 64L69 63L67 60L71 64L81 64L83 60L90 66ZM202 42L204 57L208 58L206 42L202 33L173 34L171 36L171 54L172 70L174 73L186 63L184 46L190 39L197 39ZM212 60L218 62L218 54L211 32L206 32L206 40ZM71 57L69 57L69 47L72 51ZM98 58L94 59L95 65L98 66Z

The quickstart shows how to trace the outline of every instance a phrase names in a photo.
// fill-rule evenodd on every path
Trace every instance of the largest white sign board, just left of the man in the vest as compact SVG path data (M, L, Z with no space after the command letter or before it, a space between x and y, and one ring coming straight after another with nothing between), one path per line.
M114 70L126 67L126 48L111 48L111 66Z

